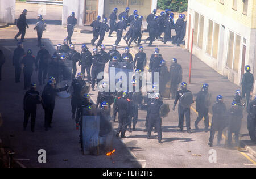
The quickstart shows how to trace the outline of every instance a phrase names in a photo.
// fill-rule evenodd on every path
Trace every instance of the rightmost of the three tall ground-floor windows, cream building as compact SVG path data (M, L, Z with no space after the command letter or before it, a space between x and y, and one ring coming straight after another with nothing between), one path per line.
M229 46L226 66L238 73L241 36L229 31Z

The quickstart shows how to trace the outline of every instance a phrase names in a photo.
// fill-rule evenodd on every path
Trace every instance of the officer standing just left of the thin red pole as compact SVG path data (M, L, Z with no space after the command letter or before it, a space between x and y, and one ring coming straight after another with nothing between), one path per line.
M177 63L177 59L172 59L172 64L170 66L170 80L171 80L171 99L175 99L178 85L182 82L182 67Z

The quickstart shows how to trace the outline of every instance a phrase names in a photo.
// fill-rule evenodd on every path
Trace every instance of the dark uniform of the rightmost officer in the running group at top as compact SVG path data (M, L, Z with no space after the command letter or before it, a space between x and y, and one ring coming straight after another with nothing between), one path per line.
M177 19L177 22L175 24L175 31L176 36L173 39L172 43L179 46L179 44L182 42L182 40L185 37L185 31L186 31L186 22L183 19Z

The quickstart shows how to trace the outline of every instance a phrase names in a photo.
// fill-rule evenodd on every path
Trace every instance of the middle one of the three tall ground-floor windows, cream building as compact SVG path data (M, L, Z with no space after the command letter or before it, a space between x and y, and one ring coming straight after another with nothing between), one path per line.
M209 20L207 36L207 53L217 59L218 55L218 34L220 25Z

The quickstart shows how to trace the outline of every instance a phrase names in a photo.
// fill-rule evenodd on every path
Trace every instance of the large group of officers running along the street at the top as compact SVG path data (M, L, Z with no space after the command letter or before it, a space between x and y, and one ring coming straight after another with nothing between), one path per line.
M93 28L93 39L91 40L92 45L96 45L95 41L100 37L97 42L96 48L101 46L102 41L106 32L109 32L109 37L112 37L113 31L117 32L117 39L115 45L118 45L122 39L123 31L130 26L123 40L126 41L128 47L132 42L135 42L138 46L141 45L142 33L148 32L149 37L144 40L145 44L150 41L148 46L152 45L155 39L162 39L164 44L167 41L172 41L172 44L179 46L185 37L186 22L184 21L185 15L180 14L179 19L174 23L174 13L167 9L160 12L160 15L156 16L156 9L147 16L147 29L142 31L142 20L143 16L138 15L138 11L134 10L133 14L129 15L130 8L126 7L124 12L118 15L119 22L117 22L118 9L114 8L112 14L110 14L110 27L107 24L108 19L104 18L101 22L101 16L97 16L96 20L90 24ZM171 35L171 29L175 29L176 36ZM164 32L164 37L161 37Z

